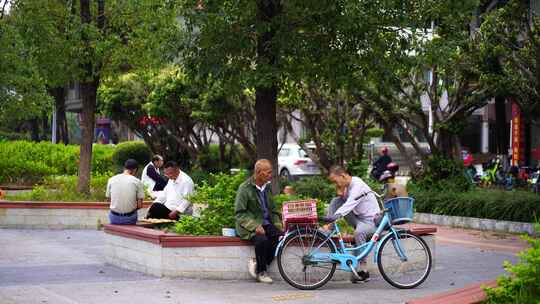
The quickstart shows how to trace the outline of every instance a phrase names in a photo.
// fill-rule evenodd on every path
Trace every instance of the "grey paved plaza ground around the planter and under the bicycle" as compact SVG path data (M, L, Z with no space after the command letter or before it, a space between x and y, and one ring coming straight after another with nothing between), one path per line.
M514 236L439 228L436 268L413 290L375 276L311 292L286 283L156 278L103 263L103 232L0 229L0 303L403 303L494 279L525 244Z

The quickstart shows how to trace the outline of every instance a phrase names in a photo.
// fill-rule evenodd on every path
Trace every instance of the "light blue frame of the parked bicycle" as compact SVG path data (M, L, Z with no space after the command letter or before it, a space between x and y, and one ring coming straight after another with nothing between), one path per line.
M384 234L381 237L381 234L385 230L385 227L388 226L388 233ZM312 228L313 229L313 228ZM280 240L278 246L276 247L275 256L277 256L280 248L285 243L285 240L293 233L296 233L296 231L300 230L300 228L297 228L296 230L288 231L287 234ZM317 229L314 228L313 233L316 233ZM318 245L316 248L313 248L312 251L309 253L309 261L310 262L320 262L320 263L340 263L340 269L344 271L352 272L351 269L357 269L358 263L361 259L365 258L374 248L375 253L373 255L373 261L375 264L377 264L377 256L380 250L380 245L382 242L394 235L396 238L396 241L393 242L393 246L398 253L401 260L406 261L407 256L405 255L405 251L401 247L401 242L399 241L399 232L400 230L396 230L392 227L392 224L390 222L390 218L386 212L384 212L384 216L379 223L379 226L377 227L377 230L371 237L371 239L357 247L347 248L345 246L345 242L343 241L343 237L341 235L341 231L339 229L339 226L337 223L334 223L334 229L326 236L326 239ZM338 237L338 244L339 247L336 246L333 237ZM379 242L380 241L380 242ZM330 242L331 246L337 249L338 252L336 253L322 253L318 252L318 250L321 248L323 244L326 242ZM354 251L360 251L360 254L355 255ZM351 252L350 254L348 252Z

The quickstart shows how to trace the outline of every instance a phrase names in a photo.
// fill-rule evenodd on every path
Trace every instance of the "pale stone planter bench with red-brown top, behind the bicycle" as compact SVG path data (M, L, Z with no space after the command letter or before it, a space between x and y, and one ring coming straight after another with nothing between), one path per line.
M247 261L254 257L251 242L238 237L183 236L140 227L105 225L106 262L121 268L158 277L198 279L250 279ZM422 235L435 256L435 228L413 231ZM368 270L377 272L373 256ZM269 268L270 276L281 279L277 263ZM349 274L337 271L335 280L348 280Z

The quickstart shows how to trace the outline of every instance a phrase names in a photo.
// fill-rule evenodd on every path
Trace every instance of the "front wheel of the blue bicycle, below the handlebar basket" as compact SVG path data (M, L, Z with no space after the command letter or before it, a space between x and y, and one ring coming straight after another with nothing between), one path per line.
M409 289L422 284L431 271L432 258L426 242L413 234L400 232L385 239L377 255L377 266L392 286ZM399 243L399 247L398 247ZM403 250L402 259L398 248Z

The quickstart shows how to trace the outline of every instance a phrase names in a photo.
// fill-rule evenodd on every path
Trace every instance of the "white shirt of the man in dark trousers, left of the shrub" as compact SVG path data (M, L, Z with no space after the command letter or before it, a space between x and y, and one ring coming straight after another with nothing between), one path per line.
M175 180L169 179L165 189L154 200L156 203L162 203L169 210L178 210L181 213L192 214L191 202L186 197L195 190L195 184L191 177L180 171Z

